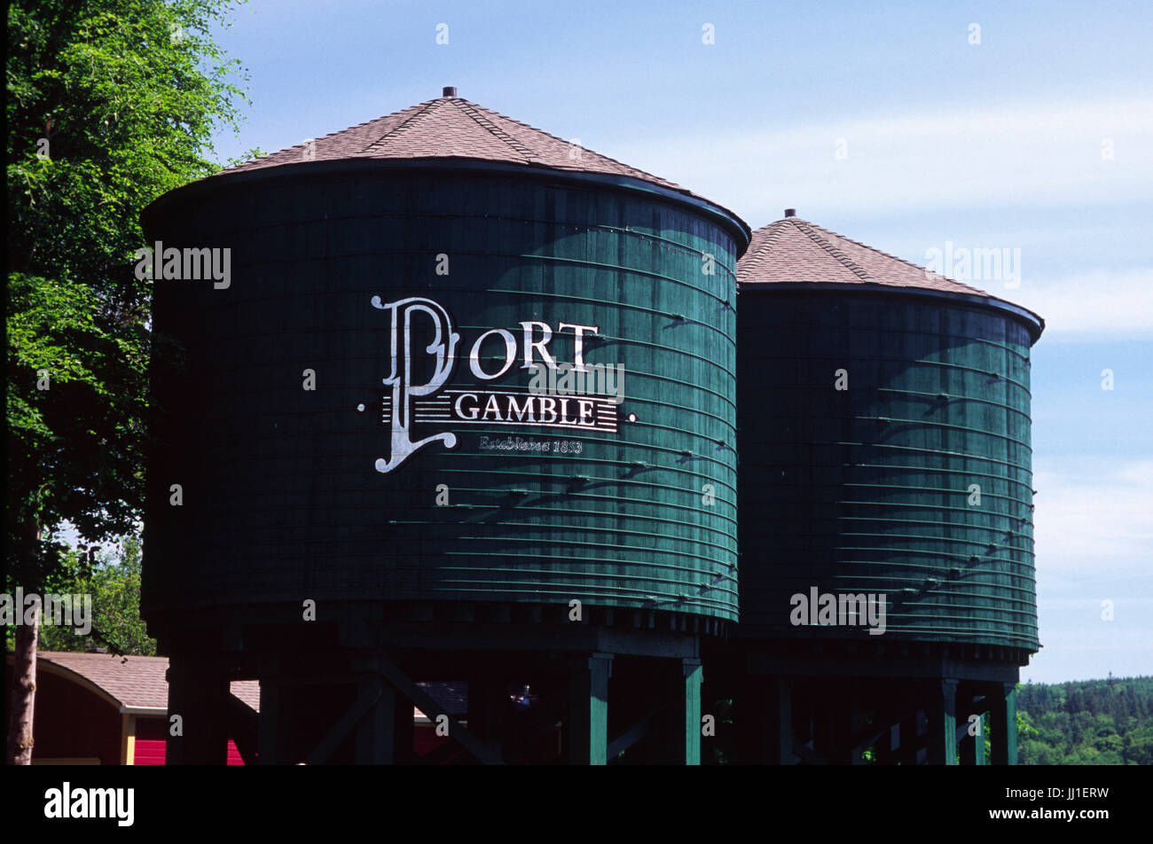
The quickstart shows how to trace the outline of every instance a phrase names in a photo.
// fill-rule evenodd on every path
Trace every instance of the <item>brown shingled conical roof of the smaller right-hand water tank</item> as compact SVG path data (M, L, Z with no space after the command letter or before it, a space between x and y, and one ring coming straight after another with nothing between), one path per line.
M881 285L990 297L977 287L954 281L797 217L786 217L753 232L748 251L737 262L737 282Z

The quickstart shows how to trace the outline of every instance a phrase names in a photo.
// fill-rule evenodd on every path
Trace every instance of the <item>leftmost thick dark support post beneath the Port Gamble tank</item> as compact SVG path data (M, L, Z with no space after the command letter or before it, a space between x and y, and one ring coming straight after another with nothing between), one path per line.
M228 679L183 655L168 661L167 764L227 764ZM174 736L173 715L180 733Z

